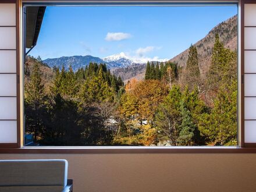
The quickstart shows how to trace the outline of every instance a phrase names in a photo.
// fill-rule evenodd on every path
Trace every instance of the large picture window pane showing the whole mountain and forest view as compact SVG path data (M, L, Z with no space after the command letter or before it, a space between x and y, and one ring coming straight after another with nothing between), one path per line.
M24 145L237 145L237 5L24 6Z

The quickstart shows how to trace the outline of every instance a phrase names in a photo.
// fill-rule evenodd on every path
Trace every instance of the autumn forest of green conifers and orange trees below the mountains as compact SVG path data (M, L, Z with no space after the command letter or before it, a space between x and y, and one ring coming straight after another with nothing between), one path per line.
M76 72L27 56L25 132L35 145L237 145L237 54L215 35L200 72L191 45L186 66L148 62L126 84L104 63Z

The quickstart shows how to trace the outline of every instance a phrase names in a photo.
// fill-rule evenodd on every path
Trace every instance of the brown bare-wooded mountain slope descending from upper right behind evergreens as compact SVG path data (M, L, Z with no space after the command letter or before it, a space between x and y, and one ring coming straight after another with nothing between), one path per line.
M215 26L204 38L194 44L195 47L197 47L202 77L205 76L211 64L212 48L214 47L215 34L217 33L224 46L235 51L237 49L237 15ZM169 61L177 62L179 66L186 66L188 56L189 48ZM120 75L125 82L132 78L140 80L144 78L145 65L141 65L140 67L134 65L122 69L112 69L112 73L116 76Z

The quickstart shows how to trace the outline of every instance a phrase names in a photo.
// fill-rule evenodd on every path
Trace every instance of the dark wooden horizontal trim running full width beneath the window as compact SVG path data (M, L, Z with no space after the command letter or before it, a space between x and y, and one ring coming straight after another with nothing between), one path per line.
M247 145L247 147L249 147ZM255 146L254 146L255 147ZM256 148L0 148L0 154L236 154L256 153Z

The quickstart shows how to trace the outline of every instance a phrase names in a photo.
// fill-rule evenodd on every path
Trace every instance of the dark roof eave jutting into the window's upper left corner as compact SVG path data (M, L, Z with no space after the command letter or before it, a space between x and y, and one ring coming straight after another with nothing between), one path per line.
M45 8L45 6L26 8L26 48L32 48L37 44Z

